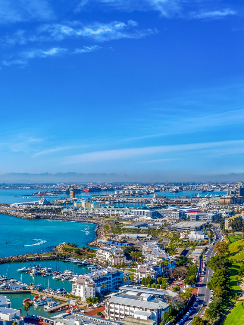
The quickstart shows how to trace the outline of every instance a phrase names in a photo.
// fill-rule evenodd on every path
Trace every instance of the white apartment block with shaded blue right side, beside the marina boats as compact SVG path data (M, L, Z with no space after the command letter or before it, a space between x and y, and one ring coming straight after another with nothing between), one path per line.
M79 296L81 301L86 301L88 297L96 297L96 292L103 294L102 286L107 291L115 291L120 286L123 275L123 271L115 267L84 273L72 283L72 294Z

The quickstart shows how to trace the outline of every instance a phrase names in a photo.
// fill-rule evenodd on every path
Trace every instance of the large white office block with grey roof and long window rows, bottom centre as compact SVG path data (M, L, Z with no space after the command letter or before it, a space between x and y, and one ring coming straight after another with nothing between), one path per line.
M131 291L125 288L122 292L111 294L106 301L106 318L121 321L134 316L144 320L153 319L159 325L163 313L169 309L169 304L163 298L154 296L152 291Z

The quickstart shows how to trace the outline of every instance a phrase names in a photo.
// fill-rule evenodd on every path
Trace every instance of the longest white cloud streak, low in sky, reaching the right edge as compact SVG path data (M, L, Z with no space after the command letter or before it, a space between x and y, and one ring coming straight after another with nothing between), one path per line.
M87 152L78 155L68 156L63 158L60 164L77 164L77 163L90 163L90 162L104 162L113 160L126 160L138 158L139 156L148 156L154 154L165 154L169 152L183 152L194 151L203 149L227 149L233 146L243 146L244 140L233 141L219 141L219 142L203 142L203 143L190 143L170 146L154 146L143 148L127 148L127 149L114 149L104 151ZM177 157L172 157L177 158Z

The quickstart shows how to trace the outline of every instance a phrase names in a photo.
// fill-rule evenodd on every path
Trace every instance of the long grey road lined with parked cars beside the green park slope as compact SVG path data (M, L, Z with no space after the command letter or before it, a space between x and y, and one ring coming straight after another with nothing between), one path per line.
M218 227L213 227L213 233L216 234L216 242L215 244L220 241L222 239L222 234L219 232ZM208 255L208 257L206 257L206 261L209 261L210 258L212 256L214 256L214 252L213 249L215 247L214 245L210 245L210 253ZM203 260L200 261L200 275L201 275L201 269L203 266ZM198 302L198 306L195 307L195 309L193 309L192 314L186 318L186 320L182 323L185 325L190 325L192 323L192 319L195 316L201 316L205 309L207 308L207 305L209 304L209 300L210 300L210 295L211 295L211 291L209 290L209 288L207 287L207 283L211 280L211 275L213 274L213 271L210 267L205 266L205 274L200 276L200 282L197 283L197 296L195 298L195 301L197 298L199 298L199 302ZM194 302L195 302L194 301ZM203 306L203 302L205 302L205 306Z

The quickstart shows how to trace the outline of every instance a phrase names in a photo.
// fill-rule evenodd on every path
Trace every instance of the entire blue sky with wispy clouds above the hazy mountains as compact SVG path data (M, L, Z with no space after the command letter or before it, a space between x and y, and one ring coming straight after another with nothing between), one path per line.
M2 0L1 174L239 173L242 1Z

